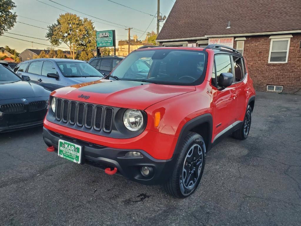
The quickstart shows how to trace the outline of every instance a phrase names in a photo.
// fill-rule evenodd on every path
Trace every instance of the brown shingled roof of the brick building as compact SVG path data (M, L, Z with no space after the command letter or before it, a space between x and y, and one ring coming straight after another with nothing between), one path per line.
M176 0L157 40L289 30L301 30L301 0Z

